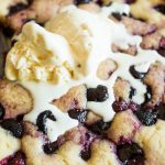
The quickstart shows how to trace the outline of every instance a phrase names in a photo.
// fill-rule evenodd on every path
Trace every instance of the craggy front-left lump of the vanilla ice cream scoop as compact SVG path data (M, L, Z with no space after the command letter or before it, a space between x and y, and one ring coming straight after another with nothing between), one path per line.
M73 69L74 62L67 41L34 22L24 25L6 63L6 76L10 80L59 82L70 79Z

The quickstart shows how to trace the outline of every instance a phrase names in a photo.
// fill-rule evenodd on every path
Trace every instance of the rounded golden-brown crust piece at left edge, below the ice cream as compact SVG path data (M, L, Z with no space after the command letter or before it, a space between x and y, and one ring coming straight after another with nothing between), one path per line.
M21 85L0 80L0 103L6 110L4 118L15 118L32 110L33 99Z

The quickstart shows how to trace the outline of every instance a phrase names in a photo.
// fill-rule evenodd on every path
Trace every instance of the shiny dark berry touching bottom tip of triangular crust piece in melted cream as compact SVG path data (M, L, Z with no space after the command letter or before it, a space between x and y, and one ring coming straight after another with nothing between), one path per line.
M85 123L88 114L88 110L69 110L68 114L73 119L77 119L80 123Z

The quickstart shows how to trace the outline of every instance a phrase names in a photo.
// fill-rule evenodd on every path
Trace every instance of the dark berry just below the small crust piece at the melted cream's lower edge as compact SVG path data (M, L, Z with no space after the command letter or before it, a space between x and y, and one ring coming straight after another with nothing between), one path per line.
M94 124L87 125L87 128L97 134L102 134L107 129L109 129L110 122L103 122L103 120L99 120Z

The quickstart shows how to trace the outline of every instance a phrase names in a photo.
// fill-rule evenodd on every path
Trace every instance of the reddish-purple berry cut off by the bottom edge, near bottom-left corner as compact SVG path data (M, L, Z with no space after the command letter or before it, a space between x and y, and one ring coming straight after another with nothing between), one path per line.
M25 165L25 157L22 153L16 153L14 157L9 161L9 165Z

